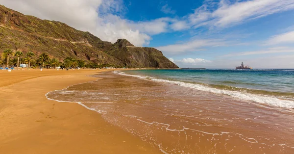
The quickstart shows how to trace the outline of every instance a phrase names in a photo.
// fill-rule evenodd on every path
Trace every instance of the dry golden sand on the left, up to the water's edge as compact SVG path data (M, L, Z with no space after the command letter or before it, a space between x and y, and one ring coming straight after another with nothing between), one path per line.
M107 70L0 71L0 154L157 154L96 111L45 94Z

